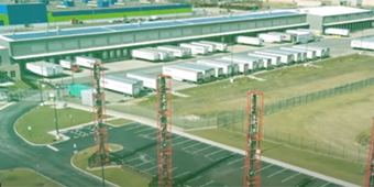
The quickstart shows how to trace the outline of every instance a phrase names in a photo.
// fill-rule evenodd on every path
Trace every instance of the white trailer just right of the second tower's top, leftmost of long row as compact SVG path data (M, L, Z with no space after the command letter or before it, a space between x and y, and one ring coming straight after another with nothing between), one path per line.
M176 65L163 66L163 74L168 75L174 80L186 81L189 84L202 84L205 76L202 72L190 70Z

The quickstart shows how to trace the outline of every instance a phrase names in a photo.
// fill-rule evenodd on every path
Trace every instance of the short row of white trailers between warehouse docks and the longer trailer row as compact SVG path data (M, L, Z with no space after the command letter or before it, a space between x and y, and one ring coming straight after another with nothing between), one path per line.
M163 45L157 47L136 48L131 52L135 59L145 59L150 62L168 62L175 58L189 58L193 55L208 55L216 52L226 52L228 44L199 41L191 43L182 43L176 45Z

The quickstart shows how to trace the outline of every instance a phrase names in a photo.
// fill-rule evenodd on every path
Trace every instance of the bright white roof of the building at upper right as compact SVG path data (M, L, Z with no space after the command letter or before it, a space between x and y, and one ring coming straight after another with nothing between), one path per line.
M318 8L304 8L304 9L298 9L298 10L302 13L321 15L321 16L373 12L371 10L350 8L350 7L318 7Z

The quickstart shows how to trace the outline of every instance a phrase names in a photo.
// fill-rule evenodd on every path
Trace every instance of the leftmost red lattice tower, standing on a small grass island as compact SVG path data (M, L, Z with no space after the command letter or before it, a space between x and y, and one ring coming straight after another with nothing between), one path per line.
M92 116L95 122L96 166L102 166L109 162L108 127L105 123L106 95L103 77L102 63L95 63L92 66Z

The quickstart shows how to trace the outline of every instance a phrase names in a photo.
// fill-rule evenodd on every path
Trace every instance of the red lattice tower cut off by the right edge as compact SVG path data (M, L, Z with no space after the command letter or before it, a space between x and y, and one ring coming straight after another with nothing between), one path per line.
M369 156L366 163L366 175L365 175L365 186L374 187L374 118L372 125L371 142L369 146Z

